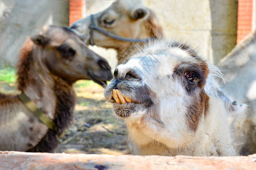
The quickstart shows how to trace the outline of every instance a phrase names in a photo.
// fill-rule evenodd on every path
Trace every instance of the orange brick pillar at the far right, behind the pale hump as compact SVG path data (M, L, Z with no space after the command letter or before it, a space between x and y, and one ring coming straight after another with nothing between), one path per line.
M251 32L253 26L253 0L238 0L237 43Z

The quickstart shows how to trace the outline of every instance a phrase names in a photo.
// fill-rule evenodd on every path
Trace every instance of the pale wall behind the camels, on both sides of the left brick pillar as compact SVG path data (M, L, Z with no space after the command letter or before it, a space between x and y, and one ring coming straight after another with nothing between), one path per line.
M39 32L44 24L68 25L68 1L1 0L1 6L3 2L16 3L7 19L0 18L1 27L4 25L0 32L0 66L3 59L6 63L15 65L24 39ZM113 2L85 0L85 13L97 13ZM211 62L218 63L236 45L237 0L143 2L156 12L166 37L189 42ZM115 67L117 62L114 50L96 46L92 49Z

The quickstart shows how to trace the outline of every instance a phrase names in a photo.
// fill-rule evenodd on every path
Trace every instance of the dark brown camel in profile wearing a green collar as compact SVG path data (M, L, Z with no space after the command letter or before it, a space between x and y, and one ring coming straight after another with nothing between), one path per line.
M55 150L59 135L72 122L73 84L79 79L105 85L112 79L110 66L68 28L44 27L42 34L28 38L18 64L22 94L0 95L0 150Z

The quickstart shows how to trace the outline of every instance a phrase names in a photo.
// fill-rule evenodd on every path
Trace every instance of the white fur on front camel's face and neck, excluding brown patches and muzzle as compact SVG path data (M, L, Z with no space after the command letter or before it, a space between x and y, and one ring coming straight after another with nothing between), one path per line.
M197 60L185 50L171 47L170 42L158 40L138 49L118 71L126 73L133 69L156 94L156 112L163 127L154 118L147 116L148 109L132 113L125 118L129 130L129 142L133 154L139 155L194 155L194 156L234 156L237 155L229 129L228 104L231 100L221 91L216 77L222 75L216 66L208 63L209 75L204 87L209 96L206 116L200 117L196 131L189 129L186 114L188 105L193 105L179 80L173 78L174 69L181 62L196 63ZM151 66L149 66L149 63ZM138 86L138 84L137 84ZM225 101L226 100L226 101ZM239 109L239 108L236 108Z

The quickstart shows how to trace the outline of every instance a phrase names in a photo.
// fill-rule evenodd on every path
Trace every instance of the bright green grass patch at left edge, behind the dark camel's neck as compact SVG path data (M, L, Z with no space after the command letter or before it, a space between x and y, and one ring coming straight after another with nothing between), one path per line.
M6 67L0 70L0 82L15 83L16 71L13 67Z

